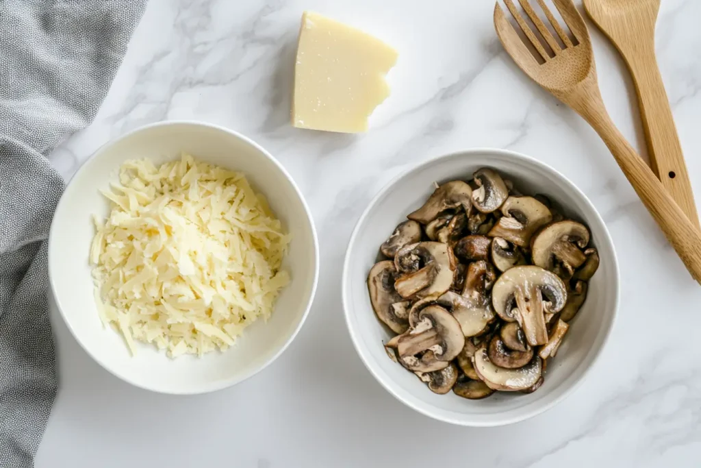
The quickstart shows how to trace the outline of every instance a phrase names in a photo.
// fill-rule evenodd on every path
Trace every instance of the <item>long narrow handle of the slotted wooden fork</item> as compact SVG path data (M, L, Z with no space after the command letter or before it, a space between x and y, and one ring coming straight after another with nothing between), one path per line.
M580 106L576 110L599 133L691 276L701 283L701 232L691 224L653 171L618 131L603 102Z

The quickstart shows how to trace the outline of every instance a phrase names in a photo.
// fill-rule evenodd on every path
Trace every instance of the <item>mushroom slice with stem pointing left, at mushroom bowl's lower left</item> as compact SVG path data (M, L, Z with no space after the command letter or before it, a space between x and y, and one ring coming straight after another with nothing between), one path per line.
M426 350L435 359L451 361L465 346L460 324L446 309L430 305L418 313L418 323L398 340L400 359L416 356Z

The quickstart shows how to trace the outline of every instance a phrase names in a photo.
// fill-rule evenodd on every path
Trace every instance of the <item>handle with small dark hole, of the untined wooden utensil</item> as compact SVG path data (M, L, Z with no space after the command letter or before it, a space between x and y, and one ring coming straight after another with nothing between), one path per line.
M669 107L660 69L655 60L655 47L650 41L644 50L629 51L628 66L638 91L643 128L648 143L653 172L693 225L699 226L698 213L674 116Z

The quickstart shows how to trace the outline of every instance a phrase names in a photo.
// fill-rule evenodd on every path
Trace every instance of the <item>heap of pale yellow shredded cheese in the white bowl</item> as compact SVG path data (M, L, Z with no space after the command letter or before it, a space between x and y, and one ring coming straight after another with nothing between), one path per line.
M268 319L290 281L290 235L242 174L187 154L127 161L102 194L111 213L94 217L95 301L132 354L135 340L171 357L224 351Z

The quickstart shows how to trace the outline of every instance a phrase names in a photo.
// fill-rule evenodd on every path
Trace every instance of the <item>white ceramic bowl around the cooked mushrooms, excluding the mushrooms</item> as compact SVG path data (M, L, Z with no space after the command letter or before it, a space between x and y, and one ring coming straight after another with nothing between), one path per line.
M392 335L376 318L367 293L367 274L377 261L380 244L405 216L433 192L433 182L468 179L489 166L512 179L524 194L547 194L568 215L585 222L601 266L589 294L557 357L549 363L543 386L533 394L497 392L471 401L452 392L437 395L416 375L391 361L383 342ZM390 182L362 214L351 236L343 268L343 308L355 349L372 375L407 406L437 420L464 426L498 426L525 420L562 401L582 382L601 354L618 309L618 263L604 221L592 203L564 175L540 161L498 149L474 149L433 159Z

